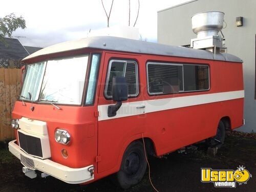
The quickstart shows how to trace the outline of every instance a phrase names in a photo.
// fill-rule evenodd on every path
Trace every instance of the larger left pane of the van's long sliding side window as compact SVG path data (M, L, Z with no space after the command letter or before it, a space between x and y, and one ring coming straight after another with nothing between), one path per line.
M147 80L151 95L183 91L182 65L148 63Z

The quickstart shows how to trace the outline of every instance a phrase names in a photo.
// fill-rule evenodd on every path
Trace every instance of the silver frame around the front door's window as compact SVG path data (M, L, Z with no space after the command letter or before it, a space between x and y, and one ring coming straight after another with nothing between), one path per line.
M106 99L112 99L113 96L109 96L107 94L108 92L108 86L109 86L109 79L110 79L110 71L111 66L113 62L124 62L125 63L125 71L126 71L126 64L127 62L134 63L135 64L135 74L136 74L136 94L130 94L128 95L128 98L137 97L139 95L139 73L138 73L138 62L135 60L127 60L127 59L110 59L109 66L108 66L108 72L106 74L106 80L105 80L105 88L104 88L104 97ZM124 71L124 73L125 73Z

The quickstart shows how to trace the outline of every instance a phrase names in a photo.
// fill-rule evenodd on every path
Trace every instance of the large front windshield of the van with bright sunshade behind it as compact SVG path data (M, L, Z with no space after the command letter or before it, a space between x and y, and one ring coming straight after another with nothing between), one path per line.
M27 66L21 100L81 104L88 55Z

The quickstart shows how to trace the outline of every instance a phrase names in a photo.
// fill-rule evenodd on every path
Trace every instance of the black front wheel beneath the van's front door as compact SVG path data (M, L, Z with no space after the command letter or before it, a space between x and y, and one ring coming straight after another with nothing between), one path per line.
M123 189L138 184L146 172L144 146L140 141L134 141L125 150L116 181Z

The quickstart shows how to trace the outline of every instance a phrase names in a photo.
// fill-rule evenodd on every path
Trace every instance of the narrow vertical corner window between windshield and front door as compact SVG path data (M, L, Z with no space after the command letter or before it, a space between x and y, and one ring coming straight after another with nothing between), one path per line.
M96 83L98 79L100 55L93 54L91 62L91 70L86 94L86 104L94 103L94 96L96 91Z

